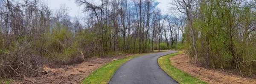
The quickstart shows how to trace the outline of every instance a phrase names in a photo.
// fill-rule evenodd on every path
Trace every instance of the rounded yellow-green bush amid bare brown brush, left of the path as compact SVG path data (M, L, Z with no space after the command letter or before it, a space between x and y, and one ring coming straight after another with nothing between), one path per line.
M45 42L45 43L44 43ZM53 64L73 64L79 62L79 42L73 37L72 32L66 28L61 30L52 30L52 32L41 36L41 41L35 42L42 46L44 52L41 52L44 57L49 60L54 60ZM51 61L52 62L52 61Z

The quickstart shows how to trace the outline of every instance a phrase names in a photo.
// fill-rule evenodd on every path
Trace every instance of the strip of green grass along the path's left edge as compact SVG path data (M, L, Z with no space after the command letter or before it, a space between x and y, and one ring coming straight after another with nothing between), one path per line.
M164 51L160 51L164 52ZM138 56L143 56L147 54L152 54L152 53L145 53L145 54L139 54L135 56L131 56L128 58L116 60L113 62L110 62L101 68L97 69L93 73L91 73L88 77L84 78L82 81L83 84L108 84L116 70L125 62L127 62L130 59L133 59Z

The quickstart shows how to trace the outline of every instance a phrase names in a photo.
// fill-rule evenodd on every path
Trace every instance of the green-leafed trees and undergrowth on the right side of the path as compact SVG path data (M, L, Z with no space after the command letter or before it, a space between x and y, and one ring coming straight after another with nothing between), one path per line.
M255 0L174 0L171 4L186 22L183 32L190 59L255 76Z

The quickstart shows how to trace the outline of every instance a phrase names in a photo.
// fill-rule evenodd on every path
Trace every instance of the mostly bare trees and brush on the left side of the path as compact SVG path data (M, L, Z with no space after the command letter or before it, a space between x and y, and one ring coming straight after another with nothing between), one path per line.
M163 14L155 0L74 0L83 13L70 17L61 4L1 0L0 78L38 76L43 66L92 57L177 49L184 22ZM176 47L175 47L176 44Z

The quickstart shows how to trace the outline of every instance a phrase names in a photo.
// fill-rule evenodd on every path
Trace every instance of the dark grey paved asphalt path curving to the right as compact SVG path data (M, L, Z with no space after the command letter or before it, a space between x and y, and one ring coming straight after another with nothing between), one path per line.
M166 74L157 59L177 51L139 56L122 64L111 78L109 84L178 84Z

